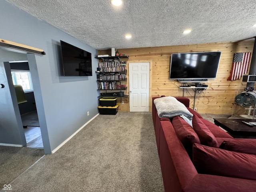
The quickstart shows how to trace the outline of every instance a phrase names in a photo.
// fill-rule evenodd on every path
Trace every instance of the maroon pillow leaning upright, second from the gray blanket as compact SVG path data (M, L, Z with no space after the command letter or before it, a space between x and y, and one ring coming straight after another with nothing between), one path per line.
M208 129L208 127L200 120L200 118L196 115L192 118L193 128L198 135L201 144L210 146L210 147L219 147L219 144L212 134L212 132Z

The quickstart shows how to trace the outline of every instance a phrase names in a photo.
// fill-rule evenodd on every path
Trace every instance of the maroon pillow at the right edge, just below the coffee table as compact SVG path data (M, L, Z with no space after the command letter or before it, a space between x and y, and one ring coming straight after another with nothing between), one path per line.
M224 140L221 149L256 155L256 139Z

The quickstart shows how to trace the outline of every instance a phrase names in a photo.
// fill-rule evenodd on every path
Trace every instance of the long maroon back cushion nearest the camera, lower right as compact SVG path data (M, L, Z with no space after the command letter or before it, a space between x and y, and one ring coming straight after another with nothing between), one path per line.
M193 144L198 173L256 180L256 155Z

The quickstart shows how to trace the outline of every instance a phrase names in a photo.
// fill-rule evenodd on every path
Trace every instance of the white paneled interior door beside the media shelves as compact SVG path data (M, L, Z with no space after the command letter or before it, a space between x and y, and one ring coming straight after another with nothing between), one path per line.
M130 112L149 111L150 63L129 63Z

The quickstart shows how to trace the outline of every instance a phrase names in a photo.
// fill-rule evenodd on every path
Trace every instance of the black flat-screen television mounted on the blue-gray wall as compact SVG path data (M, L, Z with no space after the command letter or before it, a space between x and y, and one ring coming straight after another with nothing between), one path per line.
M92 76L92 54L60 40L63 76Z

